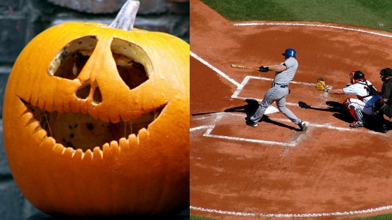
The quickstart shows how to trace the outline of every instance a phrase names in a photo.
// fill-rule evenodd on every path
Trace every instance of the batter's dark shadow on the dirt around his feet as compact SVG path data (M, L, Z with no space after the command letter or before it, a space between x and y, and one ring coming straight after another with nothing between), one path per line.
M234 108L228 108L225 110L225 112L245 113L246 114L245 120L246 120L246 119L252 117L252 115L256 112L256 110L258 110L258 106L260 105L260 103L258 103L258 101L253 98L246 98L245 102L246 102L246 105L241 105L241 106L234 107ZM266 122L266 123L274 124L276 126L285 127L290 130L300 131L300 129L295 129L293 126L288 126L287 124L272 121L271 119L269 119L269 117L267 115L263 115L262 118L259 120L259 122Z

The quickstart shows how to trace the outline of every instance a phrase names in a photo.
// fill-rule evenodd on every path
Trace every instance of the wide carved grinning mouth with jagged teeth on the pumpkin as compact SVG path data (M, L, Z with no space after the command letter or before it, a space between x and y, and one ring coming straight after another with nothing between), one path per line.
M94 119L90 115L80 112L59 113L56 110L48 112L27 103L22 98L20 100L27 107L25 114L32 113L34 115L34 119L31 119L28 124L36 121L40 123L35 132L39 129L45 129L48 137L55 138L57 144L73 149L82 149L83 152L88 149L92 150L94 147L102 149L105 143L118 142L120 138L128 139L130 135L138 137L139 131L148 129L148 124L154 122L165 108L162 106L127 122L112 123Z

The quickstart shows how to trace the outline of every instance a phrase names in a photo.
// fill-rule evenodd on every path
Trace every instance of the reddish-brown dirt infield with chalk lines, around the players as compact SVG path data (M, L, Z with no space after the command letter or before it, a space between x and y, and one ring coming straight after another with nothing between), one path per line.
M340 103L350 96L314 88L322 76L345 87L360 70L381 89L392 67L392 34L311 22L230 22L190 1L190 214L218 219L349 219L392 212L392 131L364 128ZM279 64L287 48L299 68L288 108L309 124L298 131L276 105L245 125L274 73L231 68ZM351 96L353 97L353 96ZM389 125L389 129L392 126Z

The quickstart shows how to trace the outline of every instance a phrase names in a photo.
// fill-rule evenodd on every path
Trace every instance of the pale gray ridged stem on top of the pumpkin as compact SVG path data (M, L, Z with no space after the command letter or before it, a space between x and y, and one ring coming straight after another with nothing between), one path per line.
M134 21L139 10L140 2L137 0L128 0L123 8L120 9L115 20L109 27L132 31L134 29Z

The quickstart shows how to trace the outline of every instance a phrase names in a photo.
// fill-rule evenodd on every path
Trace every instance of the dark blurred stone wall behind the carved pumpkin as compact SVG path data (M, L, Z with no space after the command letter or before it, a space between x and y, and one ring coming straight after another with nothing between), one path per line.
M13 181L3 147L3 96L15 59L34 36L55 24L110 24L125 1L0 0L0 220L25 220L39 212ZM189 43L189 0L139 1L135 28L166 32Z

